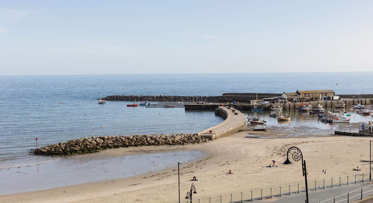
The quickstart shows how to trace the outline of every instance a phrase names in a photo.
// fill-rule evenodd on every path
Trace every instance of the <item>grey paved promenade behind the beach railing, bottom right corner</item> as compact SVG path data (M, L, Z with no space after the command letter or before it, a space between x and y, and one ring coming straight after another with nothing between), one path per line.
M323 189L323 190L308 191L308 202L319 203L324 200L339 196L341 194L349 193L351 191L358 190L358 189L361 189L363 187L370 186L370 185L371 184L369 183L356 183L356 184L349 184L349 185L338 186L338 187L330 187L330 188ZM373 186L372 188L369 187L369 188L363 189L363 193L369 190L373 190ZM350 197L358 195L358 194L361 194L360 190L350 193ZM373 191L363 194L363 197L367 197L372 194L373 194ZM350 198L350 202L354 202L355 200L359 200L360 198L361 198L360 195L358 195L357 197ZM347 195L335 198L335 202L338 202L343 199L347 199ZM282 197L273 197L270 199L263 199L263 200L258 200L254 202L261 201L261 202L276 202L276 203L303 203L305 202L304 200L305 200L305 193L303 192L299 194L292 194L289 196L282 196ZM347 200L341 203L345 203L345 202L347 202ZM333 199L327 202L323 202L323 203L333 203Z

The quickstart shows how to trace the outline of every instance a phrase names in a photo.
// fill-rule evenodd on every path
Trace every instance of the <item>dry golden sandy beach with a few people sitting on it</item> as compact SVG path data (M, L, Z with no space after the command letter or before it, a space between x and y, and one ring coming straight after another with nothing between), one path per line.
M308 180L369 171L369 139L347 136L301 138L245 138L250 131L220 138L205 144L185 146L143 146L110 149L90 156L97 158L171 151L201 150L206 156L180 167L181 198L192 183L203 198L302 182L300 162L281 164L290 146L299 147L307 161ZM276 160L278 168L267 168ZM352 171L359 166L362 171ZM327 174L322 170L327 169ZM232 170L234 174L226 174ZM0 196L0 202L178 202L177 167L130 178L98 181L56 189ZM190 181L193 176L199 181ZM183 199L182 199L183 200Z

